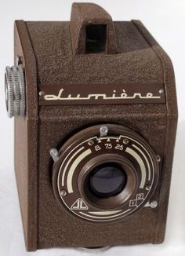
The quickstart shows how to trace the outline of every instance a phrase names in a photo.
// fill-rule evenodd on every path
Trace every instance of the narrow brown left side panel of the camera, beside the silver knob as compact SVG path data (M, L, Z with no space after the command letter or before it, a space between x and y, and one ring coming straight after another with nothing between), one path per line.
M14 119L16 185L27 251L37 250L38 236L38 103L34 51L23 20L14 27L14 60L21 57L26 79L26 116Z

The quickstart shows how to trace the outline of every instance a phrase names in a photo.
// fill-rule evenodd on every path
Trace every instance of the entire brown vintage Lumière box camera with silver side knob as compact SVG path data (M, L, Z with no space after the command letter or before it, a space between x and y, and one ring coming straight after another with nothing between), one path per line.
M140 21L87 3L70 22L16 21L5 96L27 251L162 243L176 88Z

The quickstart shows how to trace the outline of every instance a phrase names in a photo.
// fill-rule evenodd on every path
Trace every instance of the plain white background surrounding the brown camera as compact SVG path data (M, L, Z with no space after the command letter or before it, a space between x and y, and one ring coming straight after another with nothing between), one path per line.
M4 69L13 64L14 20L69 20L71 0L0 0L0 255L89 255L50 249L27 253L13 171L13 119L5 112ZM89 1L76 1L89 2ZM101 255L185 255L185 0L101 0L114 20L142 20L169 53L176 73L179 125L165 243L114 247ZM93 255L93 253L90 253Z

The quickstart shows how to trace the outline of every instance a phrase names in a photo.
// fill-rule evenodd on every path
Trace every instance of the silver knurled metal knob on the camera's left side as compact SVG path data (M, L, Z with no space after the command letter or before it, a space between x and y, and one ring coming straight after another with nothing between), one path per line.
M5 104L9 118L25 115L25 82L21 66L5 68Z

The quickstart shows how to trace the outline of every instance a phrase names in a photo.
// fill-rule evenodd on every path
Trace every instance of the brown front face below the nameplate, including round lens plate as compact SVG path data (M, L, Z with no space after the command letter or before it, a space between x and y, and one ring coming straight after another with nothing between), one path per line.
M138 109L136 110L136 108ZM84 107L81 106L63 106L63 108L49 106L42 107L40 111L38 185L39 247L45 247L46 243L50 247L56 246L56 244L59 246L71 246L73 244L74 247L114 246L126 243L125 241L128 241L127 243L151 243L155 236L154 233L160 205L158 204L157 207L152 208L148 203L153 201L158 202L160 192L162 156L164 154L163 145L165 143L165 106L151 105L151 108L148 108L146 105L142 107L115 105L113 109L107 105L104 107L86 106L85 112L83 109ZM129 114L135 110L137 115ZM82 112L84 115L82 115ZM96 115L97 112L100 112L99 116ZM158 112L159 115L153 118L153 112ZM54 113L57 113L57 115ZM107 136L100 136L100 127L102 126L109 127ZM126 143L123 143L124 136L131 138L129 144L126 144L128 142L127 140L125 140ZM102 155L105 156L105 159L101 159L100 152L95 149L99 137L101 146L103 145ZM109 137L112 137L112 141L109 141ZM115 149L118 143L116 140L118 139L120 146L118 147L119 149ZM151 166L152 163L155 165L154 172L151 171L151 178L154 177L154 183L148 195L146 189L147 182L143 182L144 187L140 188L142 179L140 164L136 163L137 161L132 155L125 152L128 146L134 150L134 147L132 147L133 140L136 147L140 148L141 151L143 150L146 157L148 154L151 156L151 159L148 156L148 160L146 160L140 150L136 149L136 152L143 160L145 169L147 170L147 161ZM110 142L113 148L110 148L110 145L105 145L110 144ZM68 179L67 182L70 167L82 153L78 151L80 149L78 148L79 144L83 144L82 147L84 149L82 149L82 152L89 150L89 148L91 150L93 149L93 157L89 158L89 155L87 155L87 158L82 160L78 168L74 169L73 178ZM98 145L100 147L100 143ZM143 147L144 149L141 149ZM49 155L51 148L57 148L60 153L60 158L54 165L53 159ZM78 153L74 155L74 152ZM74 158L72 158L73 161L68 163L69 161L67 160L71 159L72 155L74 155ZM161 162L156 162L156 155L161 155ZM94 162L94 159L99 157L100 159ZM66 158L66 160L63 161L63 158ZM103 165L104 161L106 164L108 163L108 166ZM66 168L63 177L60 174L63 174L65 167L61 172L60 167L62 164L66 166L67 163L67 168L69 169ZM113 188L110 189L109 186L102 188L98 185L100 179L97 177L102 175L103 170L109 174L111 168L118 174L116 176L118 179L115 179L116 182ZM85 175L85 170L87 170L87 175ZM124 187L124 177L125 180L127 179L126 185L128 185L128 188L126 185ZM104 178L107 181L107 176ZM64 183L62 183L62 180ZM147 180L148 173L146 172ZM58 187L58 182L61 187ZM67 183L68 185L72 185L75 195L74 193L68 193ZM90 189L85 185L89 183L91 184ZM69 185L69 188L71 188L71 185ZM119 190L119 185L122 188L121 191ZM86 190L85 188L88 189ZM140 199L136 199L136 195L142 194L143 192L144 197L142 195ZM110 193L114 195L112 198L117 199L110 199ZM120 195L123 196L123 200L120 200ZM145 198L146 200L144 200ZM135 206L129 207L132 204L130 201ZM89 210L89 207L91 207L91 210ZM78 208L82 208L83 210ZM132 213L123 214L123 216L121 215L122 218L114 215L122 214L123 208L125 210L132 208ZM122 210L122 212L119 210ZM89 214L89 211L96 211L96 214L98 213L99 215L90 214L96 218L85 216L85 214ZM102 212L106 211L110 215L103 216ZM102 221L103 218L100 217L105 218ZM49 232L47 232L48 223ZM63 235L61 236L61 234ZM51 236L53 237L52 239ZM142 236L142 240L140 236Z

